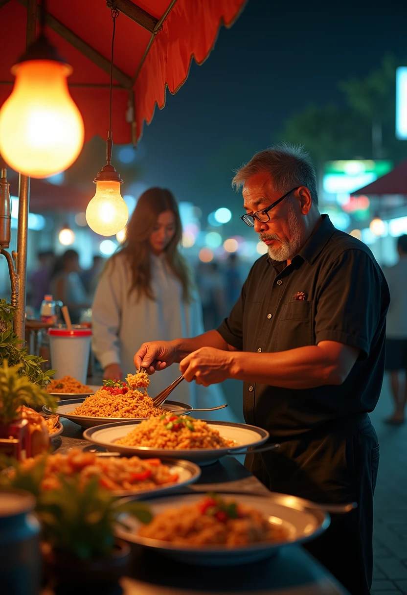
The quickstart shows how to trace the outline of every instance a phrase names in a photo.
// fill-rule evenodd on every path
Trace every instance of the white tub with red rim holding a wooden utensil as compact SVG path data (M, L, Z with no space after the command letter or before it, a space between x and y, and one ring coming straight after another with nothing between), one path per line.
M86 384L89 364L90 328L49 328L51 366L56 369L53 378L72 376Z

